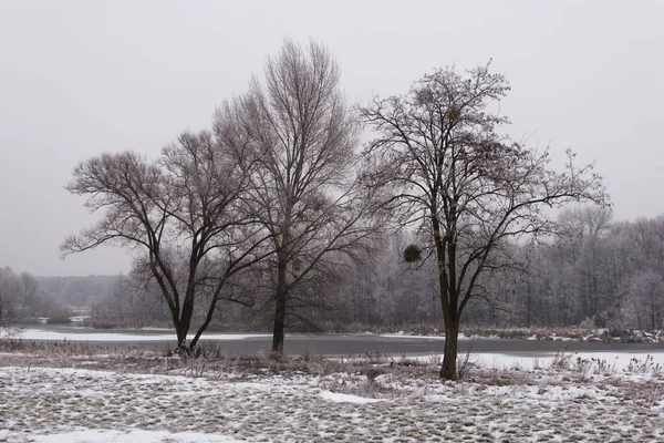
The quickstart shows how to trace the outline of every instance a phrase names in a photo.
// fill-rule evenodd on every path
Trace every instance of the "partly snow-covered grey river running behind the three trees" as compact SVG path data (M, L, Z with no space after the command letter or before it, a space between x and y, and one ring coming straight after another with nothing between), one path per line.
M85 341L110 349L165 350L175 346L175 332L164 330L100 330L75 326L24 326L22 340ZM258 353L270 349L271 337L266 333L209 333L205 343L216 344L229 353ZM445 340L438 337L380 336L373 333L287 334L284 350L289 354L312 353L328 357L442 353ZM549 356L560 350L602 353L664 353L664 343L601 343L579 341L460 339L459 352L502 353L515 356Z

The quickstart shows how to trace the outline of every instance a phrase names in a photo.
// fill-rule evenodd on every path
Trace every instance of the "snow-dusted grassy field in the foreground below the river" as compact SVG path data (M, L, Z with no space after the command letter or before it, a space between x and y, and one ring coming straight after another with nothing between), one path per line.
M173 375L159 358L98 371L82 367L107 356L29 357L0 354L0 442L664 442L658 354L474 356L455 383L432 357L346 372L173 361Z

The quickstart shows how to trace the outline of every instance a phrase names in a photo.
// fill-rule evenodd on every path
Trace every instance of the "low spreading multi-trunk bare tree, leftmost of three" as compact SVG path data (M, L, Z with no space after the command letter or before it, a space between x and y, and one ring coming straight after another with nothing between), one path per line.
M106 244L135 251L133 274L156 281L178 348L190 351L227 297L228 278L260 259L258 247L267 239L242 202L250 167L205 131L181 134L157 162L131 152L82 162L66 189L87 196L85 205L103 210L103 218L66 238L62 251ZM204 321L187 343L195 308L204 300Z

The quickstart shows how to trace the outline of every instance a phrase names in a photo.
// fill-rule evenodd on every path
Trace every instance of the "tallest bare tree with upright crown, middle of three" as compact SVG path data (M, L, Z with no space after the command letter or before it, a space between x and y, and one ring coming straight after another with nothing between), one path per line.
M272 351L281 354L287 320L319 305L311 293L339 268L338 255L362 249L377 226L354 173L359 126L328 50L291 41L268 58L264 85L255 79L246 95L225 103L215 126L241 162L257 165L249 194L271 235Z

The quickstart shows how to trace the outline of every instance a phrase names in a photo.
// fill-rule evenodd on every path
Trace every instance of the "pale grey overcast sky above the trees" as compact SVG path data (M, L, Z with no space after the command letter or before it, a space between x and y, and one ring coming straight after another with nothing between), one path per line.
M492 58L515 137L596 159L618 219L663 214L663 19L664 2L644 0L0 0L0 266L126 271L120 250L60 259L93 220L63 189L72 168L209 126L286 37L325 43L353 102Z

